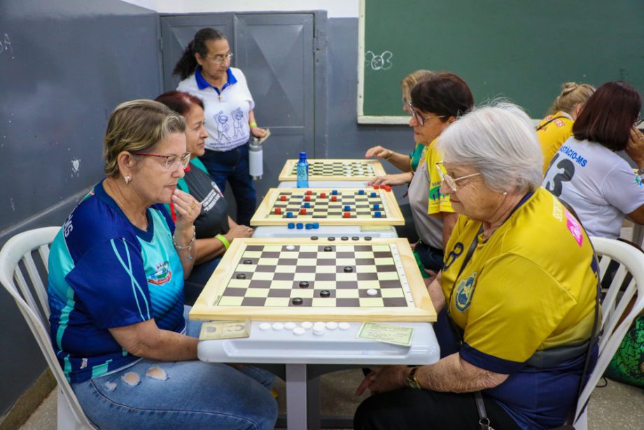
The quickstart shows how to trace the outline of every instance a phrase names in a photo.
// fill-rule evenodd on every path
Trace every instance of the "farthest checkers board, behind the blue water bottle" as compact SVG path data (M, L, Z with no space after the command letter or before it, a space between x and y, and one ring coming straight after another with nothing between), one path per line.
M279 181L297 181L297 162L286 160ZM386 174L379 160L321 158L309 162L309 181L370 181Z

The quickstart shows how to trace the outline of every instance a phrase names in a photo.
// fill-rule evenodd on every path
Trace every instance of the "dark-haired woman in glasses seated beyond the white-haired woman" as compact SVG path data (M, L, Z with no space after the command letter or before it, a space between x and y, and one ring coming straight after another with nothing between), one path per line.
M414 140L427 147L416 173L409 175L409 205L419 235L414 251L432 275L442 268L443 249L456 222L449 196L440 193L435 164L442 158L436 139L473 104L468 85L451 73L435 74L414 85L411 92L409 127L414 129Z

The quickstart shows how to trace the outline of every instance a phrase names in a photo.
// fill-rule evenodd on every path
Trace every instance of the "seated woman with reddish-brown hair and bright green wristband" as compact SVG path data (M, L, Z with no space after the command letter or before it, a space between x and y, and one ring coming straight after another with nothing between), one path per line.
M228 216L228 204L221 189L208 176L206 167L197 158L206 152L204 145L208 137L201 99L188 92L168 91L157 97L156 101L186 118L186 148L191 158L190 165L185 169L185 176L179 179L177 186L202 204L201 213L195 219L195 265L183 286L186 305L192 305L230 242L236 237L251 237L253 229L240 226ZM168 207L168 210L171 211L172 208Z

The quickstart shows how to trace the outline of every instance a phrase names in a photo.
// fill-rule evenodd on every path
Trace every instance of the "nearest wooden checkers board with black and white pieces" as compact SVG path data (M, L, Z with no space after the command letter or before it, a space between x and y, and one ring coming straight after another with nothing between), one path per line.
M435 321L406 239L235 239L190 319Z

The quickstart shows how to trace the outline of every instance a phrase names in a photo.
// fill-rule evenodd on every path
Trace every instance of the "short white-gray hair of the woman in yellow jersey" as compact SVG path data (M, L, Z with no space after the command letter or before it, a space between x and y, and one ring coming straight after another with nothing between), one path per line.
M527 193L541 186L539 141L516 104L479 106L447 127L437 142L444 162L475 168L493 191Z

